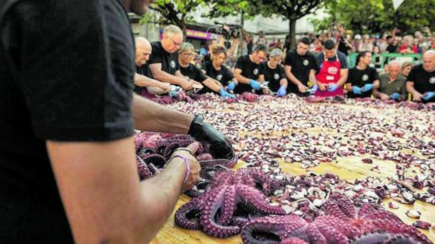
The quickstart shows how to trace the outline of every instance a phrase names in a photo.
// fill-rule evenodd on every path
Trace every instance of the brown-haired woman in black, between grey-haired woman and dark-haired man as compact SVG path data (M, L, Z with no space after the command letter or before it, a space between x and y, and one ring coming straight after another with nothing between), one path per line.
M207 76L219 81L223 87L228 86L234 80L231 70L223 65L225 60L226 48L222 45L215 45L212 48L212 61L204 63L201 69ZM204 90L200 91L200 93L206 92L211 92L211 90L204 87Z

